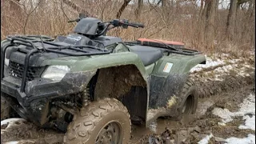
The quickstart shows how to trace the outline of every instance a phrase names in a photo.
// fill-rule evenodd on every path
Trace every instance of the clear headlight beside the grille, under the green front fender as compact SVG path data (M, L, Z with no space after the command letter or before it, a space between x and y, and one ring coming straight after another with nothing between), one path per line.
M53 81L61 81L66 73L70 72L69 66L49 66L42 74L42 78L49 78Z

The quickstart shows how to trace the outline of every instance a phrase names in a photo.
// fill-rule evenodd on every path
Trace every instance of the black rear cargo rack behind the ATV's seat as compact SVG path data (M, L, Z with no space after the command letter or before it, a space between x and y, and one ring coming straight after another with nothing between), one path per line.
M154 40L156 41L156 40ZM202 52L199 52L198 50L191 50L182 48L182 46L174 46L174 45L168 45L161 41L156 42L140 42L140 41L133 41L133 42L125 42L128 46L154 46L157 49L163 50L164 52L167 52L169 54L184 54L184 55L196 55L196 54L202 54Z

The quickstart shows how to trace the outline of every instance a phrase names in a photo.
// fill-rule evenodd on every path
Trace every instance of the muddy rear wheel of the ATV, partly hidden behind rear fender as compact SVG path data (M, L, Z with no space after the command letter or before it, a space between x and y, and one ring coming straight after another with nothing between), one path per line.
M178 116L174 120L180 121L184 118L189 118L198 108L198 90L190 79L183 86L181 95L180 107L178 108Z

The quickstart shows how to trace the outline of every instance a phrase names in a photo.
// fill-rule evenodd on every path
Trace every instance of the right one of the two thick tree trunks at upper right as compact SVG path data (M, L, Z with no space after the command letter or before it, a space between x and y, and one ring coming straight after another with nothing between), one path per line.
M230 40L234 38L234 34L235 34L236 11L237 11L237 0L230 0L230 10L229 10L229 14L227 15L227 22L226 22L226 36Z

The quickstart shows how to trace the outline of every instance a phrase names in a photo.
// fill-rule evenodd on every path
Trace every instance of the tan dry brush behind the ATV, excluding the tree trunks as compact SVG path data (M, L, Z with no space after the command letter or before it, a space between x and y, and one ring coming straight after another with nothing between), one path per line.
M55 37L59 34L69 34L74 24L67 23L69 19L77 18L78 12L70 9L59 0L44 1L44 5L22 0L20 10L11 10L9 0L1 1L1 39L10 34L45 34ZM96 15L103 21L114 19L122 5L122 1L110 0L77 0L86 11ZM82 2L82 3L81 3ZM254 49L254 14L246 10L238 10L236 35L234 39L226 40L226 19L228 10L218 10L216 15L214 49L206 50L204 42L200 41L202 24L199 22L199 6L191 3L179 8L170 8L168 14L161 7L145 4L140 18L136 21L134 10L136 5L126 7L121 18L130 22L142 22L144 29L129 28L127 30L111 30L108 35L118 36L124 40L137 38L158 38L185 42L186 46L208 52L234 52L241 54ZM186 15L189 14L189 15Z

